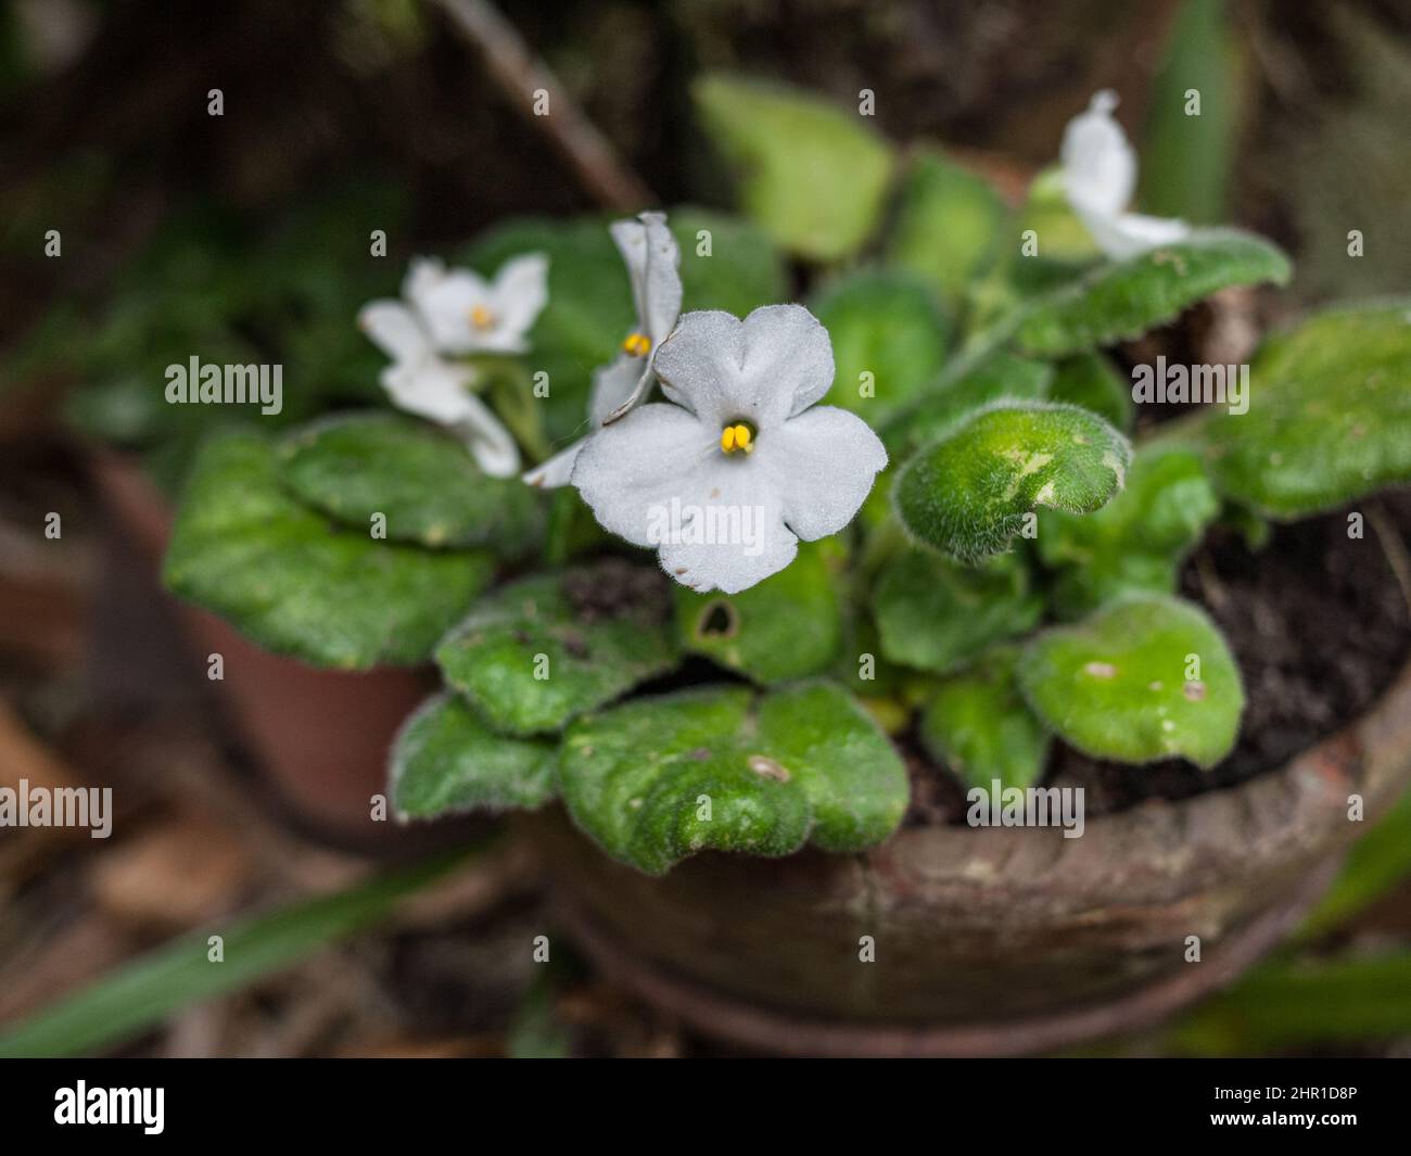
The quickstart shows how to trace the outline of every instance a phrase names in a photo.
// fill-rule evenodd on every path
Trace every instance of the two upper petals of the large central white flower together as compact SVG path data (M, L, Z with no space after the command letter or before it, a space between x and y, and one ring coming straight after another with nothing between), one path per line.
M710 426L775 426L832 385L828 330L801 305L766 305L739 320L687 313L662 343L653 368L662 392Z

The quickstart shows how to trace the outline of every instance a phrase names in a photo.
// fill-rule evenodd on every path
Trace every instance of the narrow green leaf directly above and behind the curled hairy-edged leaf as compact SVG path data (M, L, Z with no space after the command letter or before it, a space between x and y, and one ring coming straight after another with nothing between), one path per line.
M882 440L889 453L904 454L950 433L991 402L1044 399L1053 375L1053 366L1005 350L957 359L914 405L892 416Z

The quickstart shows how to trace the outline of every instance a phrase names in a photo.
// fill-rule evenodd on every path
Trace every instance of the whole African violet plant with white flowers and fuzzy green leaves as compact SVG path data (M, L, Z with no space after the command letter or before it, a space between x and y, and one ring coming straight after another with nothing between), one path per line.
M648 872L876 844L913 741L986 786L1036 783L1055 737L1219 762L1243 692L1180 565L1229 511L1411 478L1411 305L1271 337L1247 412L1133 447L1102 350L1290 265L1129 212L1110 97L1017 210L811 97L697 102L745 219L522 222L413 264L361 322L415 418L209 442L171 587L306 662L435 661L401 816L560 799Z

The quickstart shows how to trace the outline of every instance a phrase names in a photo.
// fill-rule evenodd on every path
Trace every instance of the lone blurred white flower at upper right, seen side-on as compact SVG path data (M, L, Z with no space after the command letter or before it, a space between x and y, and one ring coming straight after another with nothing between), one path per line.
M1062 176L1068 203L1108 257L1122 261L1158 244L1184 240L1184 220L1126 212L1137 183L1137 158L1112 117L1118 95L1103 89L1088 110L1068 121L1062 136Z

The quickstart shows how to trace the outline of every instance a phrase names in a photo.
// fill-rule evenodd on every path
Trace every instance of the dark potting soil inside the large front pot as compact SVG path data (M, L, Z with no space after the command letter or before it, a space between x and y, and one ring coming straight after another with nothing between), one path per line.
M1348 534L1353 510L1362 538ZM1084 788L1088 816L1184 799L1277 769L1366 711L1411 648L1407 596L1381 534L1405 549L1411 493L1274 526L1259 550L1233 529L1212 531L1187 562L1181 593L1209 611L1239 662L1246 706L1235 749L1201 771L1182 759L1127 766L1055 742L1044 783ZM907 824L964 823L964 788L919 752L907 764Z

